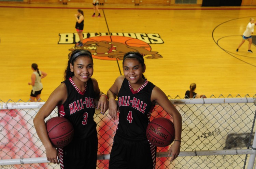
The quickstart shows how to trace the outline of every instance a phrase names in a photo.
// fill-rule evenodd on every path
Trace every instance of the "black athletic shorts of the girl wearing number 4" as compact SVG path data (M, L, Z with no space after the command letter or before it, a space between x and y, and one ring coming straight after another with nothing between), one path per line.
M148 140L127 140L114 136L109 169L155 169L156 147Z

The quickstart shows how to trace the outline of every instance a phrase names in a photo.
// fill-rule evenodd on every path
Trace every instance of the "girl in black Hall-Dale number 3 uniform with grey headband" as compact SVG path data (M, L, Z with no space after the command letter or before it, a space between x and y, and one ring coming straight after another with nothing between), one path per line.
M108 109L108 98L99 89L93 75L93 58L87 50L74 50L65 71L65 81L53 91L33 122L42 141L47 160L60 163L61 169L96 169L98 138L94 114ZM67 118L74 127L72 142L58 151L51 144L44 119L58 106L58 116ZM59 157L59 161L57 159Z

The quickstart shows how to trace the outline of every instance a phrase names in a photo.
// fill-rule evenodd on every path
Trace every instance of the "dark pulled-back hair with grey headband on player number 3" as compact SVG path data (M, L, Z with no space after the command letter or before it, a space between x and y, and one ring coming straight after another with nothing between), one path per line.
M91 58L91 60L93 60L93 57L91 56L91 53L90 51L88 50L84 50L84 49L75 49L70 58L69 58L69 61L68 61L68 65L67 65L67 68L64 72L64 80L67 80L69 79L70 77L73 77L74 76L74 72L71 72L71 69L70 69L70 63L72 65L74 65L74 62L76 61L76 59L80 56L88 56L89 58Z

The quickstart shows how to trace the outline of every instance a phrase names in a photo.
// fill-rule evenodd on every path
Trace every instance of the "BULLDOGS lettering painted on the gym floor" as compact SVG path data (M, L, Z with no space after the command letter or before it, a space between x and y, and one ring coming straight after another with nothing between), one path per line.
M97 36L124 36L124 37L130 37L134 39L139 39L147 44L161 44L163 43L163 40L161 39L160 35L158 33L120 33L120 32L84 32L83 33L84 39L85 38L91 38L91 37L97 37ZM77 33L60 33L59 34L59 42L58 44L75 44L79 41L79 36Z

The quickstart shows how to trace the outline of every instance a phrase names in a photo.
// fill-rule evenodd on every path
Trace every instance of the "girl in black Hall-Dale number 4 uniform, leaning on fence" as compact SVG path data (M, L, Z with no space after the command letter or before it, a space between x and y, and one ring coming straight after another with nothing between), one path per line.
M181 114L162 90L145 79L145 70L143 56L128 52L123 58L124 76L117 77L107 92L110 116L116 120L119 112L109 169L155 169L156 147L148 142L146 128L156 102L174 121L175 141L169 149L170 161L180 153Z

